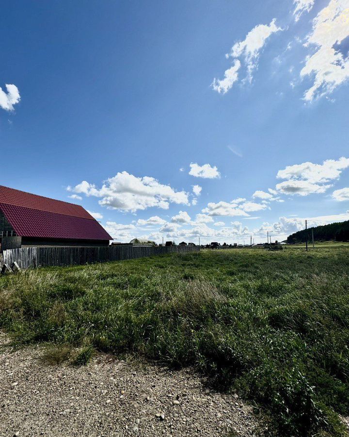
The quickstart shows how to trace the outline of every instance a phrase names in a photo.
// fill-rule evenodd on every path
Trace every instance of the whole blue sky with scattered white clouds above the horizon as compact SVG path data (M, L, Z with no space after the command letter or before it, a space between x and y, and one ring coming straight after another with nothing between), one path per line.
M0 184L118 241L349 219L349 0L3 1Z

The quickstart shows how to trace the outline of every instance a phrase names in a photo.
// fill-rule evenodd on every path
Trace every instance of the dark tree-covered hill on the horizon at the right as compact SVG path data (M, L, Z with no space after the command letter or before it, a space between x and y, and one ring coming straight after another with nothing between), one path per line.
M308 228L307 230L295 232L287 237L287 243L303 243L312 240L312 230L315 241L349 241L349 220L341 223L331 223L329 225Z

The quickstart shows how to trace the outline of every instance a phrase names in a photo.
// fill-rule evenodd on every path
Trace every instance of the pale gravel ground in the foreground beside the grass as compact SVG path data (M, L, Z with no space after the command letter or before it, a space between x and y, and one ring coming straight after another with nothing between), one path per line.
M0 333L0 436L224 437L259 428L252 407L206 389L192 369L111 355L84 367L52 366L43 346L14 351L8 342Z

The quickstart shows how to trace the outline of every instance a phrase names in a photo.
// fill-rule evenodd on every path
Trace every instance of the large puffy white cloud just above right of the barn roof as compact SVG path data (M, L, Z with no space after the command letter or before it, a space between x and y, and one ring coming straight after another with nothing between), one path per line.
M99 197L100 205L122 211L135 212L149 207L168 209L170 202L189 205L189 195L185 191L175 191L170 185L160 184L152 177L139 178L127 171L107 179L100 189L82 181L75 187L68 186L67 190Z

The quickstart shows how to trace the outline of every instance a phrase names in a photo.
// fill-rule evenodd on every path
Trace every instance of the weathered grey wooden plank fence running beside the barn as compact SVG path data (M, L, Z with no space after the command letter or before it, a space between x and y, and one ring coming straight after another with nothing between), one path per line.
M106 246L106 247L22 247L3 251L4 263L17 262L21 269L39 266L70 266L142 258L166 253L199 252L193 247Z

